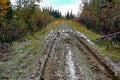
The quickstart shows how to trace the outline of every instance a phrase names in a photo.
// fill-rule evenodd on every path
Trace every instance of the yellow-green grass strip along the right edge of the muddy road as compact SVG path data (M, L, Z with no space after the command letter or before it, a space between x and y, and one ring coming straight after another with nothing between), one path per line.
M100 38L101 35L91 30L88 30L84 25L81 25L79 23L72 21L67 21L67 23L72 25L74 29L84 33L103 54L111 58L111 60L113 60L120 66L120 44L112 45L108 42L108 40L97 42L96 39Z

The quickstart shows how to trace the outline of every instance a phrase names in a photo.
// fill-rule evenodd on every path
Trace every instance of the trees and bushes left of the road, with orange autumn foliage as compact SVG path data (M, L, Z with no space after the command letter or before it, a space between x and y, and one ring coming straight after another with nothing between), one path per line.
M40 0L16 0L16 5L12 6L10 0L0 0L0 43L32 34L54 20L36 2L40 3Z

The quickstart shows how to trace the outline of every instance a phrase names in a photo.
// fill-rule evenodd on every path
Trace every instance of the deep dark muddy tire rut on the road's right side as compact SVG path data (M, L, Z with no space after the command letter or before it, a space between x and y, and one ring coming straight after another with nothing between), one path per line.
M103 56L88 40L85 38L74 35L74 37L78 40L78 46L80 50L83 50L94 64L94 67L97 68L99 72L100 80L119 80L120 78L120 70L116 68L115 64L112 63L107 57ZM91 46L90 46L91 45ZM81 47L82 46L82 47ZM93 48L94 47L94 48Z

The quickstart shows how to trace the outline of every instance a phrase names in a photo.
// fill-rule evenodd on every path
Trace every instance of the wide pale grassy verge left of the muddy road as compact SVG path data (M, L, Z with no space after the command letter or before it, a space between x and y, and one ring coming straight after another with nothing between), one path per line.
M13 42L10 59L6 62L0 61L0 80L26 80L27 77L31 77L41 57L44 37L50 30L57 28L58 22L54 22L33 35L28 34L23 39Z

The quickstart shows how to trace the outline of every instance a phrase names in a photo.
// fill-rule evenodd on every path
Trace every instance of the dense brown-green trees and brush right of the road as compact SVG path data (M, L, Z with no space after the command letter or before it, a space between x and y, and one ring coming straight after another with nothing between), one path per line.
M120 0L83 0L78 19L87 28L101 34L120 31Z

